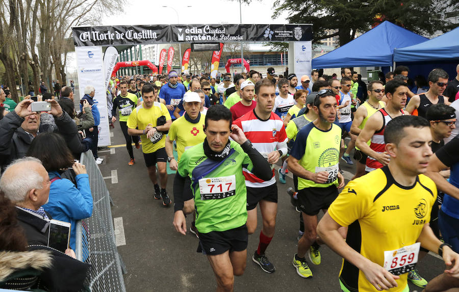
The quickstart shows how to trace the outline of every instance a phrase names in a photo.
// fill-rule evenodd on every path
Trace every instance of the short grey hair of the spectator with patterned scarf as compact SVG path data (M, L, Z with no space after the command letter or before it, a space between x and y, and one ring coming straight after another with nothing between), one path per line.
M12 170L12 167L18 164L25 164L20 173ZM43 188L43 177L28 167L31 163L42 165L41 161L35 157L26 156L13 161L4 171L0 178L0 190L5 197L13 203L22 202L32 189ZM12 173L10 173L12 172Z

